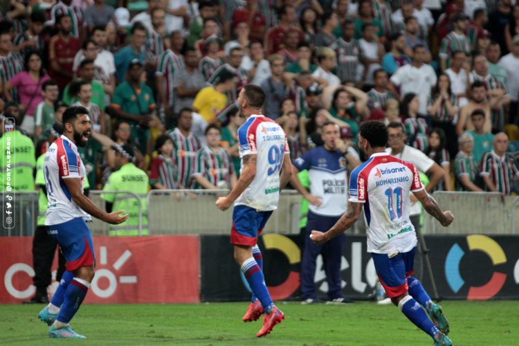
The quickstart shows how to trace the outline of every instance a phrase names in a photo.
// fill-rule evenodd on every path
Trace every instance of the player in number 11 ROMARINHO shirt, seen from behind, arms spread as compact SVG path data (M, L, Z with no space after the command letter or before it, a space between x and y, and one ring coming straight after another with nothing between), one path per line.
M358 220L364 206L367 252L372 253L385 293L411 322L432 337L435 345L453 345L446 336L449 324L441 307L432 302L418 280L410 277L417 248L415 228L409 219L410 192L442 226L449 226L454 217L449 211L441 212L424 190L412 163L385 152L389 136L383 122L365 122L360 130L358 147L369 160L352 172L348 210L326 233L313 230L310 237L314 243L323 244L342 234Z

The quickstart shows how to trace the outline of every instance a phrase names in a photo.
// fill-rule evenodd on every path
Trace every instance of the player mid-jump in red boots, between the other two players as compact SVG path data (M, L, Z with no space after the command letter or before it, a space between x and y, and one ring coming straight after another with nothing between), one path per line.
M280 190L292 175L286 135L280 125L261 115L264 102L265 92L260 86L247 84L239 93L239 115L246 118L238 129L242 174L230 194L216 202L220 210L227 210L235 202L230 242L235 246L235 260L253 291L243 320L252 322L265 313L258 337L266 336L284 320L266 288L257 236L277 208Z

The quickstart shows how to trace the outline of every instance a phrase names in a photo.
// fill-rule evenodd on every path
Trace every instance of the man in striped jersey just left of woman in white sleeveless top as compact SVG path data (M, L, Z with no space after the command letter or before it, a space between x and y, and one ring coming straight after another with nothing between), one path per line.
M355 24L351 19L346 19L343 24L343 37L340 37L329 46L336 56L336 71L340 81L360 82L357 73L359 63L364 63L364 52L357 39L354 39Z

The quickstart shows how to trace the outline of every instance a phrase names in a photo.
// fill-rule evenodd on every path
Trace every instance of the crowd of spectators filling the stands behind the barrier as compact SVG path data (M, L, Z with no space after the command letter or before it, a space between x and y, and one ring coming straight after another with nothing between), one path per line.
M435 190L518 192L511 0L10 0L0 20L1 116L33 143L15 190L37 188L70 105L93 125L91 189L130 168L154 189L233 188L237 94L253 83L292 160L331 121L363 161L358 126L380 120L394 154L405 141L443 168Z

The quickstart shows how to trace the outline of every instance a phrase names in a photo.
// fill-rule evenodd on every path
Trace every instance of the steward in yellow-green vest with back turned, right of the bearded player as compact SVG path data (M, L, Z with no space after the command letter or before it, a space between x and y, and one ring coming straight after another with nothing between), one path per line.
M111 148L116 153L115 159L118 170L112 172L108 177L107 183L102 188L107 193L101 194L101 198L106 201L107 212L124 209L129 214L129 217L122 224L110 226L109 235L140 235L138 230L139 209L143 224L142 235L148 235L145 198L149 190L148 175L134 164L134 147L125 143L122 145L112 145ZM118 194L117 191L131 191L137 194L140 197L140 203L133 195Z

